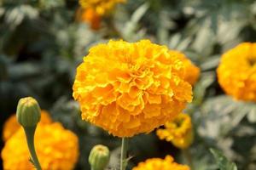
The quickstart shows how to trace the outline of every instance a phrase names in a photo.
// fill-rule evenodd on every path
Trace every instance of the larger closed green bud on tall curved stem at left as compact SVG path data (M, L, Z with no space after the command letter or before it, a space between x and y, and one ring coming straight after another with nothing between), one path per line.
M26 97L20 99L16 117L18 122L23 127L35 127L41 118L41 111L36 99Z

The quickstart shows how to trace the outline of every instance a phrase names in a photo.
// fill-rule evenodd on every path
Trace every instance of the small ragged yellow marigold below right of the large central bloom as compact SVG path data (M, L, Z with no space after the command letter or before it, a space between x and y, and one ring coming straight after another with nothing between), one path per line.
M166 122L165 128L158 129L156 134L177 148L186 149L194 139L191 118L187 114L179 114L173 121Z

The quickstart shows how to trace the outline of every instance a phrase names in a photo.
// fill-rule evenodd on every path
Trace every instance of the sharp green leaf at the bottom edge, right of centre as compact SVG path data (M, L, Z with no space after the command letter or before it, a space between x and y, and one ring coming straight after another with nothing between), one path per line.
M229 161L222 152L219 150L210 149L212 155L217 161L218 167L220 170L237 170L236 164L232 161Z

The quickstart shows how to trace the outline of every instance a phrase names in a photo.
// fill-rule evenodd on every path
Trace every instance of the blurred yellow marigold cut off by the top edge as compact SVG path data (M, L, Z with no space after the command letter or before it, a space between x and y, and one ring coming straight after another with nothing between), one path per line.
M82 8L92 8L96 14L107 14L117 3L125 3L126 0L79 0Z

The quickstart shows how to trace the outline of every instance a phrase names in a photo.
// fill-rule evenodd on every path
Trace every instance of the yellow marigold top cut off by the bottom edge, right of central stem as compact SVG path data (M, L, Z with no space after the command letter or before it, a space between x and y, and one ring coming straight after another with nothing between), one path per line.
M174 162L172 156L166 156L165 159L151 158L144 162L140 162L137 167L132 170L189 170L186 165Z

